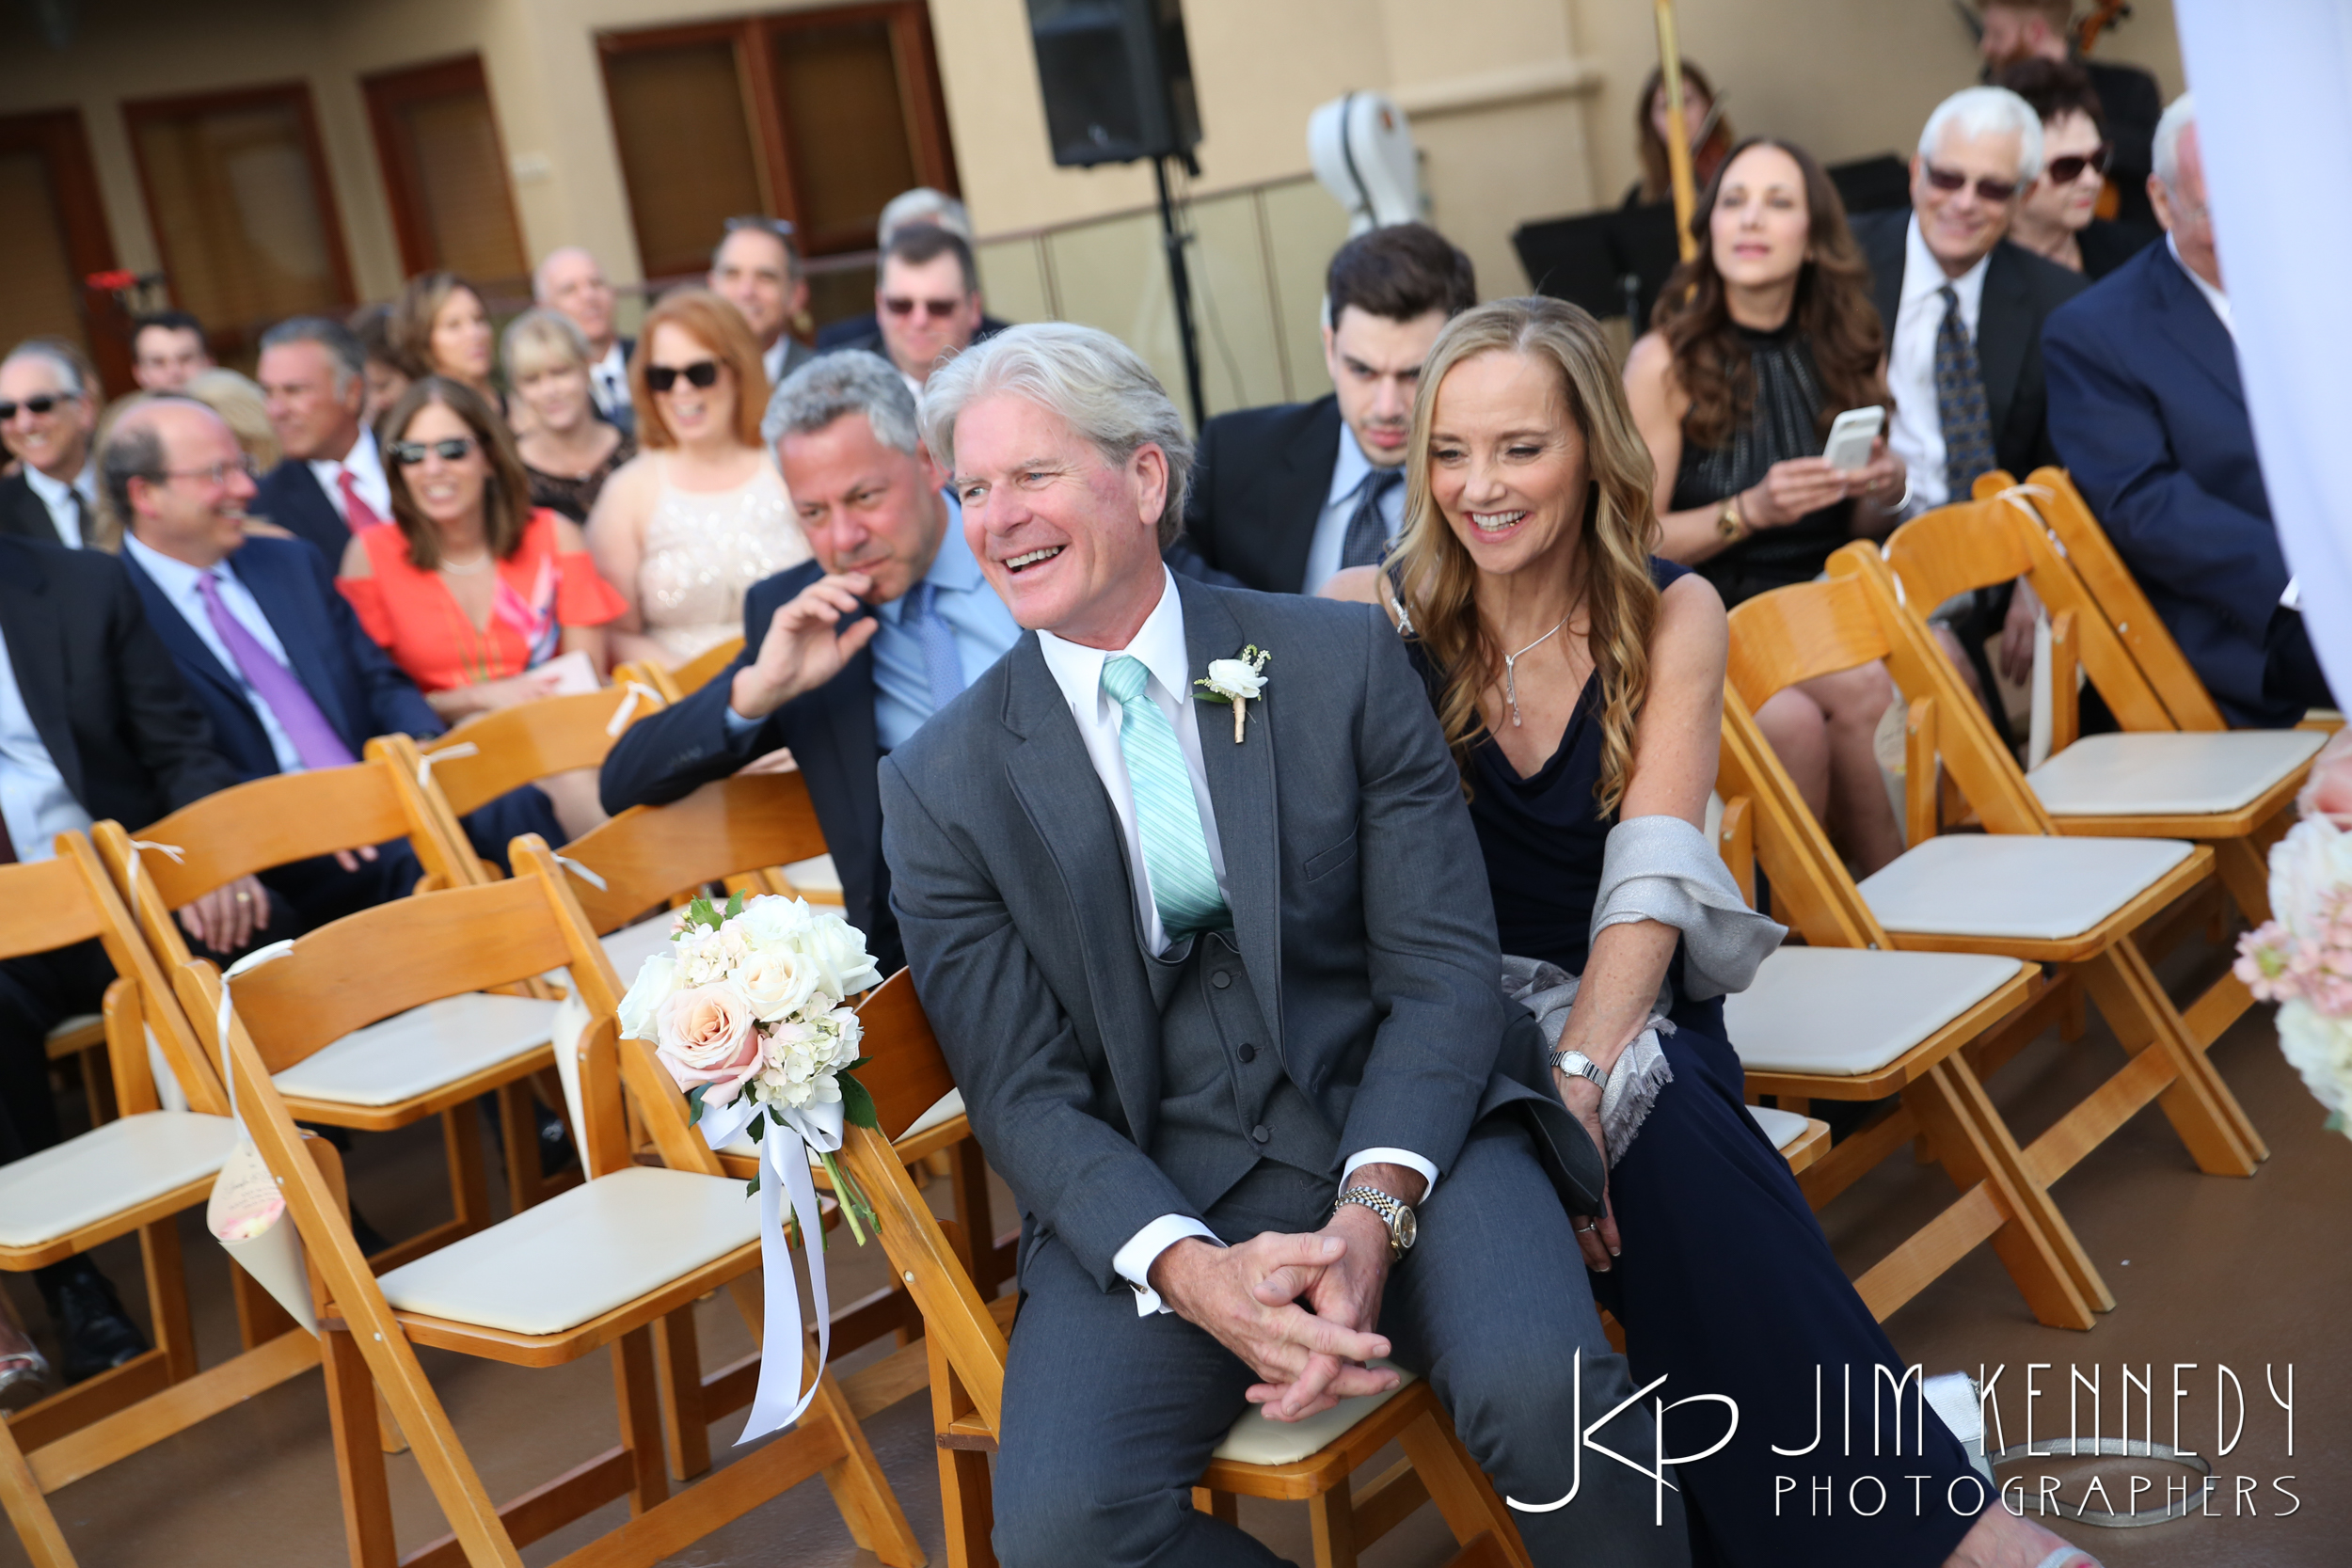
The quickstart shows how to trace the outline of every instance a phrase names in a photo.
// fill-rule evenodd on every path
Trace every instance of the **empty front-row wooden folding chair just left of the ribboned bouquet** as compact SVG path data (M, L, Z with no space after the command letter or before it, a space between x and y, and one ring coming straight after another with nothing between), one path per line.
M332 1168L315 1164L299 1143L296 1112L278 1091L282 1074L402 1009L560 966L581 973L595 961L595 938L562 886L520 875L365 910L299 938L285 957L230 983L228 1063L238 1105L285 1182L318 1267L327 1401L353 1566L520 1568L520 1547L616 1497L630 1500L630 1519L564 1561L579 1568L654 1563L814 1474L833 1488L858 1547L884 1563L920 1566L922 1549L830 1378L793 1432L703 1486L668 1493L654 1331L691 1314L696 1298L760 1267L760 1211L741 1180L635 1161L623 1131L609 1013L593 1020L581 1053L588 1182L381 1276L360 1258ZM223 985L212 964L183 964L179 983L186 1004L212 1018ZM647 1114L659 1121L663 1107ZM682 1124L661 1131L673 1140L689 1135ZM609 1345L621 1441L494 1507L426 1382L419 1345L508 1366L562 1366ZM802 1345L771 1349L802 1354L807 1366ZM376 1389L452 1526L449 1535L407 1556L393 1540Z

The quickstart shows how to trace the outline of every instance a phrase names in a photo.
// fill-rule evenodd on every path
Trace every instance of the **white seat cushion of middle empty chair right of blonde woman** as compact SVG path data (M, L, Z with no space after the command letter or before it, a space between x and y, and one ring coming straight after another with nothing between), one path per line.
M2098 926L2192 853L2176 839L1947 832L1863 879L1889 931L2065 940Z

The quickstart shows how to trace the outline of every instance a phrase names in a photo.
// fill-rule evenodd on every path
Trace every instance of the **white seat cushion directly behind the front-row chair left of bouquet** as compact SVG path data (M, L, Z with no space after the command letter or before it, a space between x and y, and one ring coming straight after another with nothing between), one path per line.
M468 992L393 1013L301 1060L280 1093L341 1105L395 1105L548 1044L555 1004Z

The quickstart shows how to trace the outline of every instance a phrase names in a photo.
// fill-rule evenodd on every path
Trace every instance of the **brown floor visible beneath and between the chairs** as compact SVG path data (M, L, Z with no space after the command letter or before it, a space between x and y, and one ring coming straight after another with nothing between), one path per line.
M2216 957L2201 957L2211 973ZM2197 976L2169 978L2176 994L2190 994ZM2016 1131L2032 1138L2117 1060L2105 1030L2093 1023L2079 1046L2063 1046L2053 1034L2037 1041L1992 1081L1992 1093ZM2277 1051L2267 1009L2223 1037L2213 1060L2270 1140L2272 1159L2253 1180L2199 1175L2161 1112L2150 1107L2067 1175L2058 1199L2117 1295L2117 1309L2093 1333L2037 1326L1990 1248L1978 1248L1938 1279L1896 1314L1889 1331L1896 1347L1929 1373L2006 1363L1999 1410L2011 1443L2023 1441L2027 1363L2051 1368L2034 1373L2042 1441L2065 1429L2070 1366L2084 1378L2100 1368L2107 1434L2114 1434L2124 1368L2133 1368L2136 1378L2140 1368L2154 1368L2157 1439L2169 1439L2171 1368L2194 1363L2194 1371L2180 1373L2190 1389L2180 1401L2180 1446L2211 1450L2216 1363L2227 1363L2244 1387L2244 1434L2227 1458L2213 1460L2223 1476L2206 1505L2213 1516L2140 1530L2065 1523L2063 1533L2117 1566L2340 1568L2352 1561L2352 1486L2343 1481L2352 1462L2352 1356L2336 1338L2343 1305L2352 1302L2352 1248L2345 1246L2352 1140L2321 1128L2321 1110ZM362 1138L350 1173L360 1204L388 1234L409 1234L447 1213L437 1126ZM934 1197L943 1192L946 1182L936 1182ZM1940 1208L1947 1194L1938 1171L1896 1159L1832 1204L1828 1234L1849 1269L1860 1269ZM997 1215L1009 1213L1000 1190ZM228 1262L205 1244L195 1215L188 1215L186 1241L198 1333L209 1363L235 1340ZM830 1260L835 1300L854 1300L884 1279L877 1251L837 1244ZM101 1265L122 1284L139 1276L132 1244L106 1248ZM19 1314L45 1333L31 1284L9 1276L7 1291ZM710 1366L750 1349L724 1298L703 1302L701 1331ZM882 1349L847 1356L837 1368L854 1371ZM536 1486L614 1441L607 1356L555 1371L517 1371L428 1349L423 1363L494 1497ZM2291 1455L2284 1413L2263 1387L2270 1366L2284 1392L2288 1363L2296 1403ZM2133 1394L2136 1434L2138 1410ZM720 1462L739 1425L741 1415L729 1415L713 1427ZM943 1563L927 1401L908 1399L880 1413L868 1432L917 1537L931 1561ZM445 1526L414 1460L395 1458L390 1472L400 1542L414 1549ZM2129 1500L2131 1472L2157 1476L2157 1500L2161 1476L2180 1474L2124 1460L2056 1467L2067 1476L2067 1497L2100 1474L2117 1507ZM2002 1474L2009 1479L2030 1469L2009 1467ZM2256 1481L2246 1497L2239 1497L2237 1476ZM2300 1497L2300 1509L2284 1514L2291 1507L2286 1493ZM85 1568L308 1568L346 1561L318 1373L85 1479L52 1505ZM524 1549L524 1561L534 1568L553 1563L607 1528L621 1509L616 1502L607 1514ZM1303 1507L1244 1502L1242 1521L1277 1552L1308 1561ZM1451 1540L1435 1509L1421 1509L1364 1561L1369 1568L1435 1568L1449 1552ZM24 1561L16 1540L0 1533L0 1568ZM804 1483L673 1561L821 1568L873 1559L851 1547L823 1486Z

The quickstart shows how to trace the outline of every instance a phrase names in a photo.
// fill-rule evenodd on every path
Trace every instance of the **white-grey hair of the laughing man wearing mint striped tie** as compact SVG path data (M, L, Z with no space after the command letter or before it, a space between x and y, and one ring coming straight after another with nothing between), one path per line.
M1127 468L1143 447L1160 447L1169 461L1160 545L1176 543L1192 480L1192 437L1136 350L1096 327L1033 322L1007 327L955 355L922 388L922 435L948 473L955 473L957 416L993 393L1011 393L1056 414L1112 468Z

